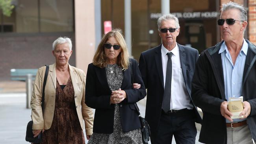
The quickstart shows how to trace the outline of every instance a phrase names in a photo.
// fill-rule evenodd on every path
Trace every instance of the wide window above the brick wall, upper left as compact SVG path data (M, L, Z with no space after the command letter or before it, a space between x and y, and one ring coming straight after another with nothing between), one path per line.
M13 0L10 17L0 10L0 32L74 31L74 0Z

